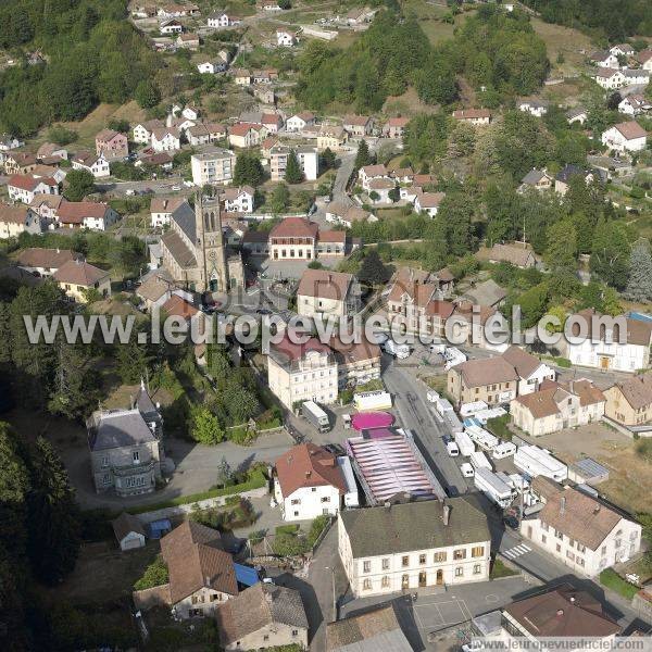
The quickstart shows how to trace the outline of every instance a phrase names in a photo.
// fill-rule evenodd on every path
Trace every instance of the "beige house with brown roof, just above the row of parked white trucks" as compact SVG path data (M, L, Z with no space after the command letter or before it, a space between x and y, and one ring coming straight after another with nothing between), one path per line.
M456 403L509 403L518 392L518 374L504 358L467 360L448 373L448 393Z

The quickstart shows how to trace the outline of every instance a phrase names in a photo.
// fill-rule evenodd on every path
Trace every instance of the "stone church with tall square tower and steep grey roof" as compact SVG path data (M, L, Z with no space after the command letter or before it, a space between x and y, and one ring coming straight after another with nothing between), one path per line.
M161 238L163 267L173 279L196 292L228 292L244 287L244 266L239 252L224 243L217 198L195 196L195 209L184 201Z

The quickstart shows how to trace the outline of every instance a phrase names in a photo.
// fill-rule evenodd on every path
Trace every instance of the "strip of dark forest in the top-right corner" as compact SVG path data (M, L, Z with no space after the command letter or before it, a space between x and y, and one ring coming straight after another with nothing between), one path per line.
M606 36L652 36L650 0L524 0L549 23L559 23Z

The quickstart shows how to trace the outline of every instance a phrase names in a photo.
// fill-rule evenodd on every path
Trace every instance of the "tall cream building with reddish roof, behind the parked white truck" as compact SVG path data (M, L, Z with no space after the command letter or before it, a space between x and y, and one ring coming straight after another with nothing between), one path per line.
M296 344L286 337L271 347L267 385L288 410L303 401L334 403L337 380L337 361L330 348L316 338Z

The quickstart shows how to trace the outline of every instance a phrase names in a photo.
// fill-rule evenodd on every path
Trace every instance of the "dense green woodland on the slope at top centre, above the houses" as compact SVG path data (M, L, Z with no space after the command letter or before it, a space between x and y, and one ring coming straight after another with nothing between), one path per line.
M391 9L349 49L312 41L299 58L299 100L321 110L330 102L377 111L388 96L413 85L429 104L459 98L457 77L484 87L486 105L536 91L549 68L546 45L523 12L481 7L453 39L432 48L415 18Z

